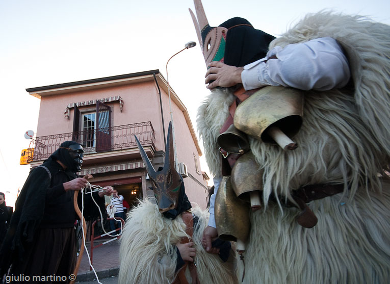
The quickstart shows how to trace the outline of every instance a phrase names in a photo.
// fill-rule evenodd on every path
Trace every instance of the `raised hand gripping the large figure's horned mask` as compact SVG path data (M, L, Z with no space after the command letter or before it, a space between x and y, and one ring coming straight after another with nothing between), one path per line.
M208 89L218 86L232 87L242 83L241 73L244 70L243 67L230 66L219 61L210 62L209 67L205 75L206 84L209 84Z

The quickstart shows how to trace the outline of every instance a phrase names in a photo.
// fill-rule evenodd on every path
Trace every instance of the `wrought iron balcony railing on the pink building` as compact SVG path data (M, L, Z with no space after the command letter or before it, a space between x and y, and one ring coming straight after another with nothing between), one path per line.
M34 156L29 162L46 160L64 141L73 140L84 146L85 154L108 152L113 150L137 147L134 135L142 145L154 147L155 137L150 121L114 127L98 128L93 131L79 131L32 139L30 148L34 148Z

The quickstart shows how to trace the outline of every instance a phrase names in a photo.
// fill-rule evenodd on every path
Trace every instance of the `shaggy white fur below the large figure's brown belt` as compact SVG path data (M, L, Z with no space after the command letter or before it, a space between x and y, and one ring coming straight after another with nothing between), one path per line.
M311 229L296 223L298 209L255 212L244 283L388 283L390 184L370 199L362 190L350 201L337 194L312 202Z

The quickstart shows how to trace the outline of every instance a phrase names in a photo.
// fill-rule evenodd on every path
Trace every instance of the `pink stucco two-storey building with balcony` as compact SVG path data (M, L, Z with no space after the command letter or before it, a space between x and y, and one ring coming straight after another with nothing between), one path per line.
M134 135L155 169L163 166L170 121L168 85L159 70L26 89L41 100L34 157L36 167L66 140L84 146L80 175L92 184L113 185L132 204L147 195L150 182ZM179 172L186 193L206 206L208 176L186 107L170 89Z

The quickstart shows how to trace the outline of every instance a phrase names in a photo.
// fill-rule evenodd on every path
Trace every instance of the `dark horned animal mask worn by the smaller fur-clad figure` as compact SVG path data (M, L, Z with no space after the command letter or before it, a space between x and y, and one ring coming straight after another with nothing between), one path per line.
M178 201L183 179L175 169L172 123L170 122L168 127L164 168L159 168L158 171L155 171L137 137L136 141L141 153L142 161L145 164L146 171L152 184L154 196L157 198L160 213L176 209L177 206L179 206Z

